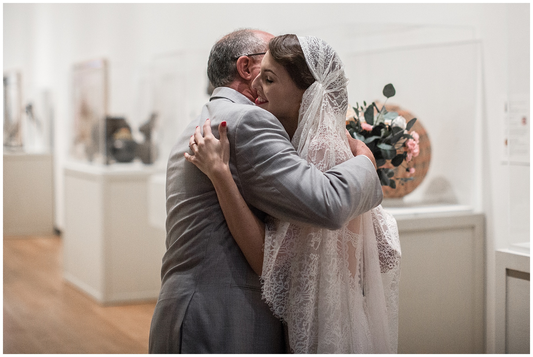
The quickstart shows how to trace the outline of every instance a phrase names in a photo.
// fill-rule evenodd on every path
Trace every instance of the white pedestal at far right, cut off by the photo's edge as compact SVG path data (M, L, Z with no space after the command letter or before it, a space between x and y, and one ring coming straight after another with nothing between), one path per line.
M496 251L496 353L529 354L529 260L529 243Z

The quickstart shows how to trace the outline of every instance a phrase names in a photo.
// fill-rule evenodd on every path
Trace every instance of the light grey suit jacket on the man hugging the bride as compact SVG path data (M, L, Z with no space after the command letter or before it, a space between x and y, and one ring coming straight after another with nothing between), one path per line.
M301 159L281 123L231 88L216 88L184 130L167 166L166 247L150 353L283 353L284 332L261 300L260 277L224 220L215 189L186 161L196 126L228 122L230 169L258 217L338 229L376 207L382 190L372 163L354 157L327 172Z

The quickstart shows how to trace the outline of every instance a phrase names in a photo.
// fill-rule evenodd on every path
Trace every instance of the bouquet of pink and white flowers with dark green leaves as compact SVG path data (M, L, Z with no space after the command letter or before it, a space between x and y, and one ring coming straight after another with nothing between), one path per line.
M383 95L389 99L396 94L392 84L383 88ZM385 100L386 103L386 100ZM377 175L382 186L396 188L397 180L400 184L413 180L411 176L415 168L409 164L413 157L418 156L419 135L416 131L409 131L416 122L416 118L406 122L397 112L388 112L385 103L378 108L375 102L362 106L356 103L346 114L346 129L350 135L364 142L374 154L377 164ZM390 162L393 168L384 167ZM409 177L394 179L398 170L405 170Z

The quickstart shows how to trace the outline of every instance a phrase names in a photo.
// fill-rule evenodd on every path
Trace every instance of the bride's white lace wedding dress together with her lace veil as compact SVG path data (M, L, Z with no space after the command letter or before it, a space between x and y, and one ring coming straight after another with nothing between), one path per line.
M292 143L326 171L353 154L345 136L348 78L327 43L298 37L314 82L304 93ZM263 298L288 326L294 353L395 353L400 245L379 205L339 230L269 218Z

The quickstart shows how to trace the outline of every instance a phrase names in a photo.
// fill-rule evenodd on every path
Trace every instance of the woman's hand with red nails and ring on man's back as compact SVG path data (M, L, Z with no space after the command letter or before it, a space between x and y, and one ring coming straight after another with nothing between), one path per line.
M213 136L211 120L207 119L204 123L204 136L201 136L200 127L196 127L195 134L189 140L193 155L184 153L185 160L195 164L210 179L230 171L230 142L225 121L220 123L219 133L220 140Z

